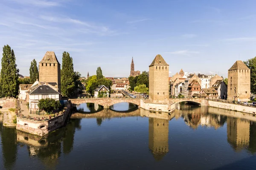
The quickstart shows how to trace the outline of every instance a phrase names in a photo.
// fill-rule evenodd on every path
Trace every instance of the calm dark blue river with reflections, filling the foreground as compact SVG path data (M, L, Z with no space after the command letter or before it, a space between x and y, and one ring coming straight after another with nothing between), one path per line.
M128 103L77 108L45 137L3 127L0 119L0 170L256 169L253 115L185 104L173 113Z

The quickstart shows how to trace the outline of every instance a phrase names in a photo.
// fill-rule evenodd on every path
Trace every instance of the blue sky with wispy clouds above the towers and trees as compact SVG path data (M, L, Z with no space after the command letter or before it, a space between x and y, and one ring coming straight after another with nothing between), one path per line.
M1 0L0 46L10 45L20 74L46 51L73 57L82 76L128 77L161 54L180 71L227 77L256 56L255 0ZM240 56L240 57L239 57Z

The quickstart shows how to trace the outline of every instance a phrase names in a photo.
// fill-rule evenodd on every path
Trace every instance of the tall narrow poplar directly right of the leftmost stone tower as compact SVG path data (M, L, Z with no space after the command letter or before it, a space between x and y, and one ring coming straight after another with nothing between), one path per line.
M68 52L64 51L61 68L61 93L63 96L70 97L74 93L75 78L73 59Z

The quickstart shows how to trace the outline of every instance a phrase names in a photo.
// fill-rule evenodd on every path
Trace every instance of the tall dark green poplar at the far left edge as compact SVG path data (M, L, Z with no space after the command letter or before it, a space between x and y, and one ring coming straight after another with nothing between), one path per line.
M9 45L4 45L0 82L2 97L17 95L18 72L13 49Z

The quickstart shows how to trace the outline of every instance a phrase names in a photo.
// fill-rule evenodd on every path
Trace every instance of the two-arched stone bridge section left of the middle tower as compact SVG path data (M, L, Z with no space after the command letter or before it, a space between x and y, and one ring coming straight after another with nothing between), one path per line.
M133 98L86 98L86 99L69 99L71 103L79 105L81 103L95 103L102 105L104 108L109 108L116 103L128 102L140 106L140 99Z

